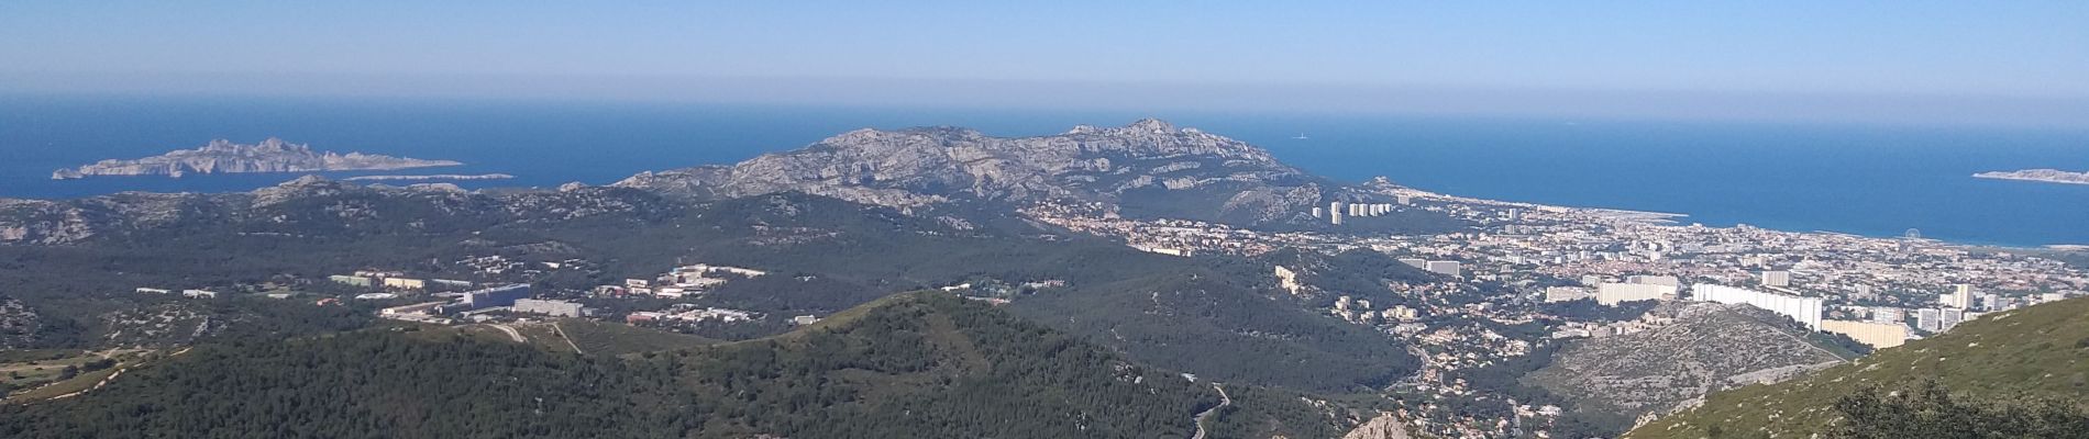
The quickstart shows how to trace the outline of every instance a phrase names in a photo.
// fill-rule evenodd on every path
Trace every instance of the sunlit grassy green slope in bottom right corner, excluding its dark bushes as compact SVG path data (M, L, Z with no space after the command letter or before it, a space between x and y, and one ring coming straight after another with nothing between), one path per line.
M2089 402L2089 298L1987 314L1962 322L1951 333L1878 350L1855 362L1826 368L1805 379L1776 385L1751 385L1713 393L1705 406L1659 418L1627 433L1629 439L1663 437L1809 437L1832 435L1847 424L1845 397L1868 395L1863 389L1924 389L1934 381L1955 399L1997 416L2024 412L2033 402ZM1888 397L1886 402L1895 402ZM1903 404L1903 408L1922 408ZM1888 404L1891 406L1891 404ZM1980 424L1980 410L1951 412L1962 424ZM1934 404L1922 416L1937 416ZM2066 412L2066 410L2062 410ZM1870 414L1868 414L1870 416ZM2074 416L2068 420L2068 416ZM2058 414L2051 422L2081 422L2074 414ZM1891 416L1882 416L1888 418ZM1868 420L1870 422L1870 420ZM1893 420L1901 422L1901 420ZM2043 422L2043 420L2037 420ZM1985 437L1985 435L1976 435Z

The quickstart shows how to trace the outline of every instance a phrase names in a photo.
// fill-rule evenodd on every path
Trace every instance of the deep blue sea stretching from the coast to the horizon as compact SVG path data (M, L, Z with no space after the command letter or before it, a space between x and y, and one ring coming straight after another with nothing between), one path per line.
M407 98L0 96L0 198L244 191L297 175L92 177L56 169L211 139L282 137L318 150L466 166L328 173L474 175L466 187L606 185L641 171L731 164L850 129L953 125L1051 135L1166 119L1343 181L1489 200L1688 214L1755 225L1980 246L2089 243L2089 185L1974 179L2089 171L2089 129L1822 123L1575 121L1538 117L1130 110L840 108ZM403 185L403 183L395 183Z

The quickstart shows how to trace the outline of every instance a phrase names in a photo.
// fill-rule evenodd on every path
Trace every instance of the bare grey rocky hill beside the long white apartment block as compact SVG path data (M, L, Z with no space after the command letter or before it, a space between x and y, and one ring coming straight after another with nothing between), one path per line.
M1790 318L1753 306L1671 302L1644 320L1661 327L1588 339L1525 381L1573 397L1579 410L1636 418L1842 360L1809 343Z

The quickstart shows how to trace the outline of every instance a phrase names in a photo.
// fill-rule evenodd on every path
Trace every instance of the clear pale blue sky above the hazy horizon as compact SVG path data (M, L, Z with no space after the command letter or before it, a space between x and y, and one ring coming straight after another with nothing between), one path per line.
M0 92L2089 125L2089 2L17 2Z

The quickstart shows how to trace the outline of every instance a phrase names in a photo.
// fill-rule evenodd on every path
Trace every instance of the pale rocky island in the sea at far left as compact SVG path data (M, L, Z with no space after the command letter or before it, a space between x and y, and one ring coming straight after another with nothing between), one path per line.
M457 166L451 160L420 160L378 154L336 154L315 152L305 144L288 144L276 137L261 144L232 144L213 139L196 150L175 150L138 160L100 160L79 169L58 169L50 179L84 179L92 175L167 175L188 173L320 173L320 171L393 171Z

